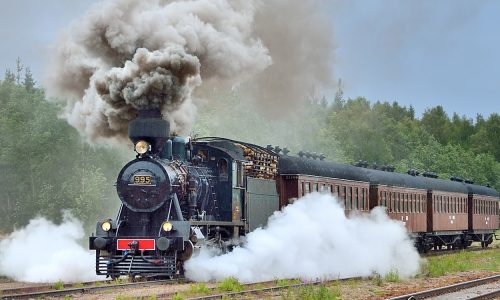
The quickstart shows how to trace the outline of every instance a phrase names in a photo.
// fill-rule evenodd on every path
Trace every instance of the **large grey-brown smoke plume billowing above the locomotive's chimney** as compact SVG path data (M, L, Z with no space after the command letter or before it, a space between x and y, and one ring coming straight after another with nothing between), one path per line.
M188 133L195 89L241 86L263 111L294 107L329 82L333 35L321 1L110 0L54 45L45 86L89 141L126 140L141 108ZM203 80L203 81L202 81ZM203 91L201 89L200 91Z

